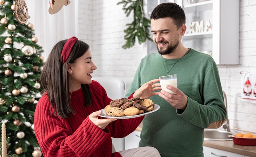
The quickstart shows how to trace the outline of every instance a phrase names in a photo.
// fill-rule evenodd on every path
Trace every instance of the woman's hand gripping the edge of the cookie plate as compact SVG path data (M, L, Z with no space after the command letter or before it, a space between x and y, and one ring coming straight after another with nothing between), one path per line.
M96 126L98 126L100 129L105 129L106 126L117 120L116 118L106 118L106 119L99 119L98 116L102 113L101 110L99 111L96 111L96 112L92 112L90 115L89 115L89 119L92 121L93 124L95 124Z

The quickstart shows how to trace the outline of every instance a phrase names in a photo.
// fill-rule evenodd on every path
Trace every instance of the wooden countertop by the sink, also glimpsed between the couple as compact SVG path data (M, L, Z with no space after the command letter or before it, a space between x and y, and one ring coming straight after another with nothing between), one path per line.
M142 123L139 124L135 131L141 131ZM249 157L256 157L256 146L241 146L233 143L233 140L229 141L217 141L217 140L204 140L203 146L210 148L220 149L232 153L241 155L247 155Z

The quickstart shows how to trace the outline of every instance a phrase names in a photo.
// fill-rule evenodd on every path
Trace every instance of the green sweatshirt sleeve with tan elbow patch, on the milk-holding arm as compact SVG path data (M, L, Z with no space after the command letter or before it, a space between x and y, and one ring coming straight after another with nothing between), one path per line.
M226 121L227 111L216 64L210 66L203 84L204 104L188 97L186 109L177 109L177 114L196 126L217 129Z

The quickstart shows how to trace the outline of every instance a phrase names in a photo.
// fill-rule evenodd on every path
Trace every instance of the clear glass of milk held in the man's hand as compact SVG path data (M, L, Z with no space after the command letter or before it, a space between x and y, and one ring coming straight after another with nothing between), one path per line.
M172 85L173 87L177 88L177 75L168 75L168 76L160 76L159 77L160 85L162 90L169 92L171 94L175 94L173 91L166 88L166 85Z

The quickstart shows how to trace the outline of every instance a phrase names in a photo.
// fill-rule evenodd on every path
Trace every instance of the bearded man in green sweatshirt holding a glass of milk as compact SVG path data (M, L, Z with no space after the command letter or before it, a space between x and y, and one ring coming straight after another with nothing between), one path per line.
M162 157L203 157L204 128L219 128L227 116L218 67L210 55L182 45L186 17L179 5L159 4L150 20L158 53L141 60L126 97L159 76L177 74L178 83L167 86L175 94L150 97L160 109L145 116L139 146Z

